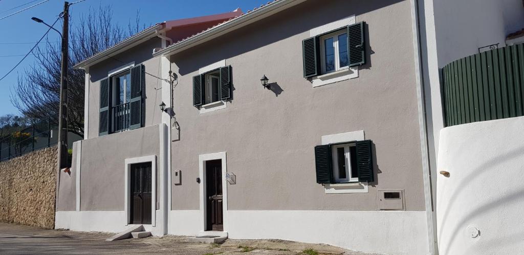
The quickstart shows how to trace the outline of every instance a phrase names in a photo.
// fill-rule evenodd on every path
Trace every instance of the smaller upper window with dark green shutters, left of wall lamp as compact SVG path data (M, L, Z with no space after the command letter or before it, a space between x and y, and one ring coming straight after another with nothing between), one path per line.
M231 66L193 76L193 106L200 108L219 101L231 101Z

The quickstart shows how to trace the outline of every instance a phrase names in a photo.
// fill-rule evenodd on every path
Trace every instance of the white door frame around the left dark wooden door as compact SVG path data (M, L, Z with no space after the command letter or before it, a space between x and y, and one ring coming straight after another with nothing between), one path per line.
M125 226L130 225L131 219L131 165L137 163L151 162L151 226L156 225L156 201L157 201L157 156L144 156L144 157L133 157L126 158L124 160L124 213L126 215ZM133 225L133 224L131 224ZM145 224L149 225L149 224Z

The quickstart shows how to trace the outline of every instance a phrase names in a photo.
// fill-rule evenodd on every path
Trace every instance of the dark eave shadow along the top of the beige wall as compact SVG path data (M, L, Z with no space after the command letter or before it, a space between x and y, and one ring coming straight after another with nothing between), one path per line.
M222 59L232 58L275 42L278 43L280 40L307 32L311 28L319 27L353 14L358 16L372 12L398 2L401 1L336 1L337 6L333 8L333 5L323 5L321 1L307 1L270 16L263 22L250 24L228 33L227 36L213 39L195 46L191 50L185 50L173 55L171 62L177 63L180 75L188 75L203 66L208 66ZM311 11L313 9L315 10L314 12ZM307 16L303 15L305 13L307 13ZM367 28L366 31L368 30ZM309 37L309 35L307 36ZM235 38L235 40L231 40L231 38ZM366 32L367 45L369 45L368 38L369 33ZM301 46L297 45L296 48L289 50L297 51L298 53L301 51ZM367 64L364 68L371 67L369 54L372 54L373 51L370 46L368 46L367 50ZM301 56L301 54L298 53L297 56Z

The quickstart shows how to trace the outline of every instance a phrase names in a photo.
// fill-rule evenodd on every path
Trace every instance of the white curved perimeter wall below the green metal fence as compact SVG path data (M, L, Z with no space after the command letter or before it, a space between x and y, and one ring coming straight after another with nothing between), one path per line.
M524 117L446 127L438 171L441 255L523 254Z

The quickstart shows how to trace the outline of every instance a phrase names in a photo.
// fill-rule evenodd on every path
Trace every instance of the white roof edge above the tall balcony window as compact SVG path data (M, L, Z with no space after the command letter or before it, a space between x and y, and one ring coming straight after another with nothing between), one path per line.
M118 54L121 51L125 50L129 46L135 46L134 44L138 42L141 39L144 39L145 37L151 36L152 34L156 34L157 30L163 29L164 23L159 23L154 26L151 26L143 31L140 31L140 33L135 34L132 37L129 37L121 42L118 42L117 44L98 52L97 54L91 56L90 58L86 58L83 61L77 63L73 66L74 69L84 69L88 68L95 63L99 63L107 58L110 58L111 56L108 56L110 54Z

